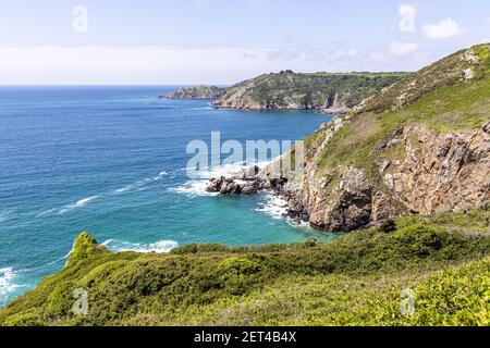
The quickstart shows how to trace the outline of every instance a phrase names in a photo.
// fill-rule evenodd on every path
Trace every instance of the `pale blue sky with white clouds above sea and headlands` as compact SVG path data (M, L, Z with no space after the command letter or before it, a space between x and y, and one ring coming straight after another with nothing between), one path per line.
M0 0L0 84L416 71L488 41L489 0Z

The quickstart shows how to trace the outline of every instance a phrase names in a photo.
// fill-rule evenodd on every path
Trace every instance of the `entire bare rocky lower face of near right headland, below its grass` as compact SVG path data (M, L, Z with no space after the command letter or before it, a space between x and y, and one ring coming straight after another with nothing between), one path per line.
M461 211L490 201L490 123L475 130L434 134L411 125L380 144L399 158L379 159L379 182L345 166L316 175L314 159L298 189L286 196L290 214L324 231L353 231L403 214ZM336 174L336 173L341 174ZM336 177L336 181L331 181Z

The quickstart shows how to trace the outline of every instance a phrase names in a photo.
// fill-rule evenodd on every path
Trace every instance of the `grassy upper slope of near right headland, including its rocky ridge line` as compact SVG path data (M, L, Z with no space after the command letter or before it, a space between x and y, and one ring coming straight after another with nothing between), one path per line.
M405 77L388 92L377 96L352 116L352 122L339 130L320 154L317 175L331 173L339 165L353 165L367 171L371 179L379 175L375 165L380 141L406 125L419 123L436 133L478 128L490 114L490 46L473 49L480 62L475 78L461 82L463 66L453 54L419 73ZM442 74L441 74L442 72ZM394 108L396 97L409 90L413 98L402 108ZM316 147L324 130L311 135L306 145Z

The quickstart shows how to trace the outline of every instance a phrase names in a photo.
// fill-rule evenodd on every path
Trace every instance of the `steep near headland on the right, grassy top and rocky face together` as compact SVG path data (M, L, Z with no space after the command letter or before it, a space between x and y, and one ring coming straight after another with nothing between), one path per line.
M277 190L324 231L483 204L489 91L490 45L456 52L323 125L306 139L305 172Z

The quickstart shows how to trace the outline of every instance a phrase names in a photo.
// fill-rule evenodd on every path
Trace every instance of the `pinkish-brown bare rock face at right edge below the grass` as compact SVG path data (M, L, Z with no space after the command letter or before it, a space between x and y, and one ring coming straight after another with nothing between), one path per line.
M391 166L384 184L409 211L454 211L490 199L487 133L468 130L438 136L425 126L412 125L403 129L403 146L407 156Z

